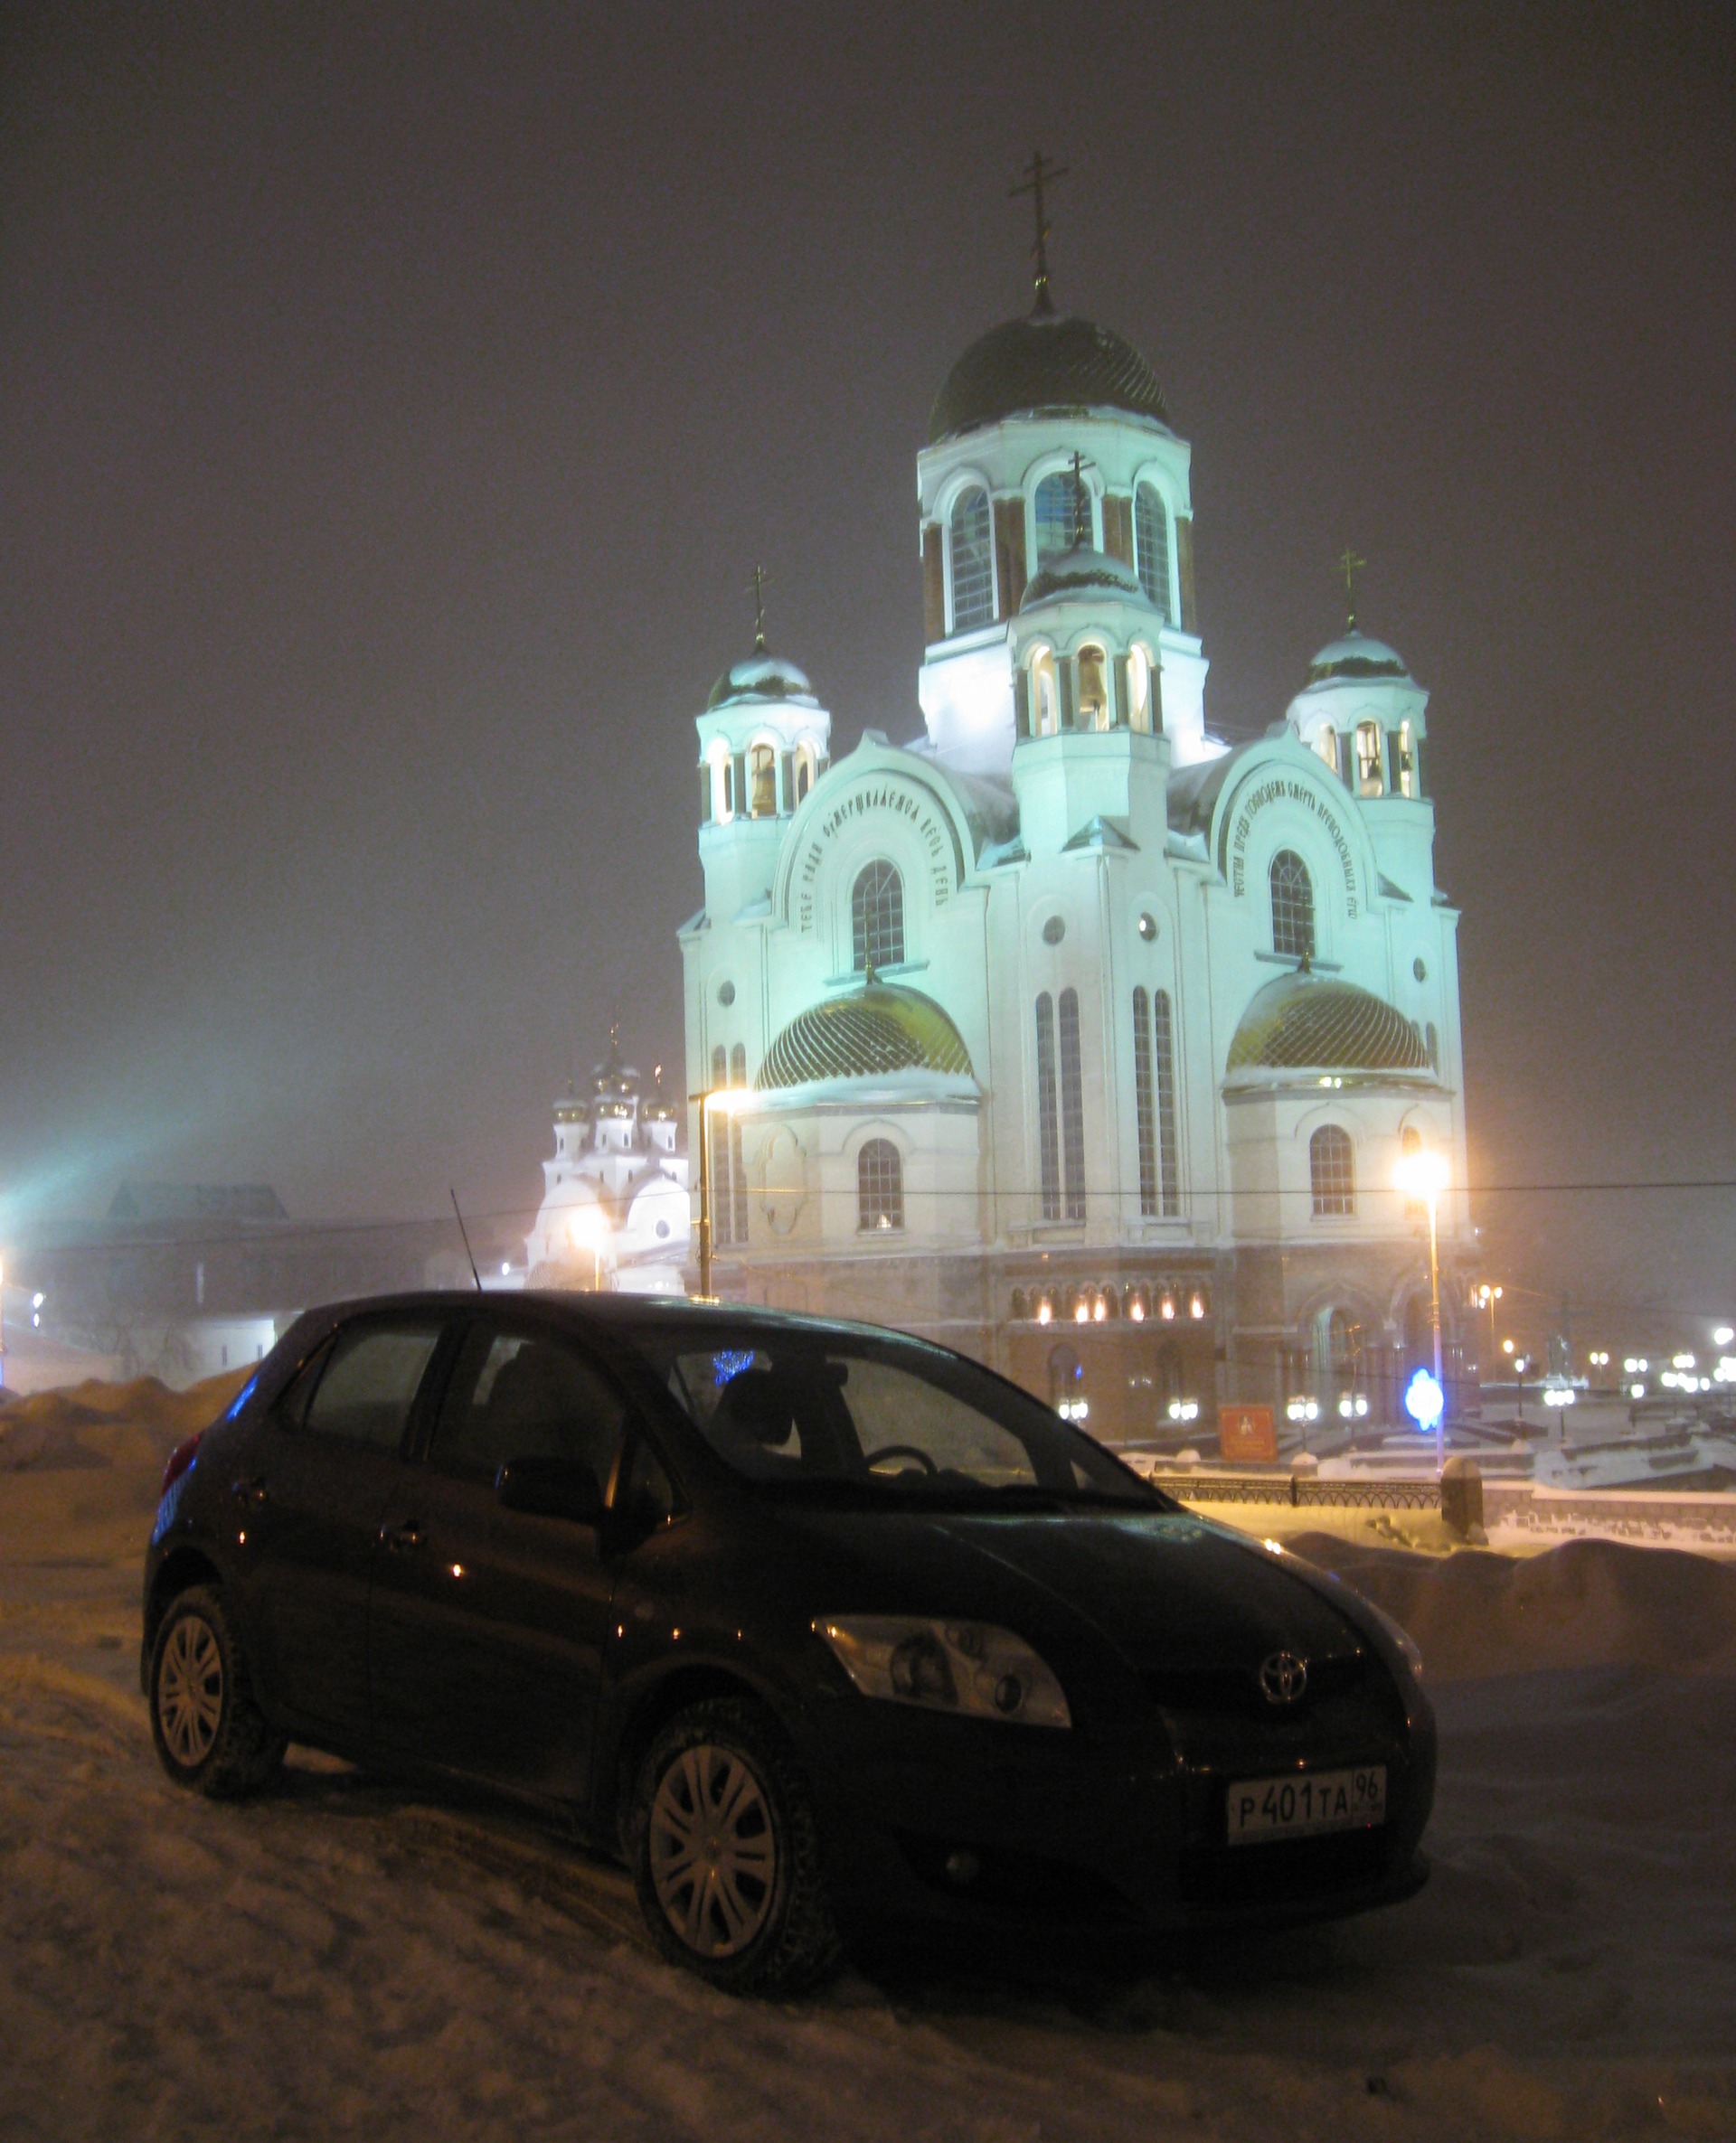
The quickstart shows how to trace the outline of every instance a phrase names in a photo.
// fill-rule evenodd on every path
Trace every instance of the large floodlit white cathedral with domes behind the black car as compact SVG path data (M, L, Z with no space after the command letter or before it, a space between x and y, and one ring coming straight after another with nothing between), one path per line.
M1039 251L917 452L924 733L834 761L763 634L697 718L714 1288L928 1333L1106 1438L1395 1421L1404 1151L1468 1247L1427 692L1352 617L1264 735L1209 731L1187 441L1046 285Z

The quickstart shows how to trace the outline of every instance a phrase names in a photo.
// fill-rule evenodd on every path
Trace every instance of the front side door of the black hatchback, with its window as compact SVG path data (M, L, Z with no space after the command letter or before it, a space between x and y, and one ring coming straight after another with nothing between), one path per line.
M512 1459L581 1459L607 1494L626 1414L566 1333L474 1318L381 1522L369 1678L384 1753L544 1798L587 1792L613 1590L600 1532L504 1509L495 1479Z

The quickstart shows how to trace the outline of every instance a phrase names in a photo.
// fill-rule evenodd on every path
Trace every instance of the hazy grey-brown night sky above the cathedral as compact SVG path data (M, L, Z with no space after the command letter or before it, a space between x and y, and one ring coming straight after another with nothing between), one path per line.
M679 1065L692 716L763 559L838 748L919 731L915 452L1033 144L1194 444L1209 724L1346 542L1434 692L1475 1177L1736 1177L1734 24L6 9L0 1230L534 1207L611 1018ZM1734 1307L1730 1192L1477 1213Z

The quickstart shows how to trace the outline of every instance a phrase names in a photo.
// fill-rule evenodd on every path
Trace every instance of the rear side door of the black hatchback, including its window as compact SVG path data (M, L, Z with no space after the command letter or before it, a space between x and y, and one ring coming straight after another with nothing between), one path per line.
M369 1736L379 1522L442 1329L426 1312L341 1327L249 1438L231 1483L266 1702L347 1749Z

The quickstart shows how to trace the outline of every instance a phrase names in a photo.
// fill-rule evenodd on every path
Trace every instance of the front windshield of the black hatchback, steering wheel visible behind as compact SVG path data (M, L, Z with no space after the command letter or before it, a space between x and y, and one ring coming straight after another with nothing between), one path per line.
M1166 1498L1018 1387L919 1342L855 1333L639 1333L709 1447L774 1494L997 1509Z

